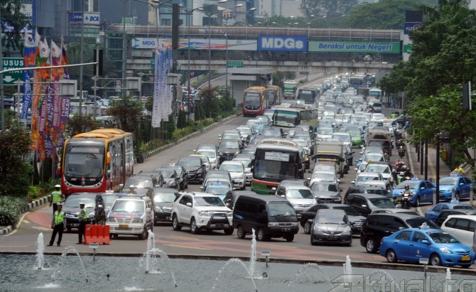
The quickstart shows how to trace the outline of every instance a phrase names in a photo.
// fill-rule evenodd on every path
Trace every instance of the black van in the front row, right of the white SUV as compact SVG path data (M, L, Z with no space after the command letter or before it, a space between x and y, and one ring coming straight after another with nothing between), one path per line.
M240 195L234 204L233 227L242 239L254 229L259 241L283 237L292 242L299 231L291 203L274 195Z

